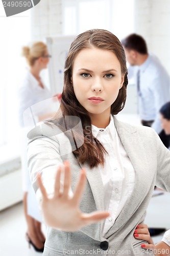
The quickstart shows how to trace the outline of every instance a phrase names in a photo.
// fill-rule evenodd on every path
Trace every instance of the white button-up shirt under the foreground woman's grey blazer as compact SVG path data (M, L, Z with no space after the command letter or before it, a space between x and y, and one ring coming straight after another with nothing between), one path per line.
M108 152L104 167L99 166L104 186L104 210L110 212L109 218L104 223L104 236L132 194L135 170L117 134L112 115L106 129L92 125L92 134Z

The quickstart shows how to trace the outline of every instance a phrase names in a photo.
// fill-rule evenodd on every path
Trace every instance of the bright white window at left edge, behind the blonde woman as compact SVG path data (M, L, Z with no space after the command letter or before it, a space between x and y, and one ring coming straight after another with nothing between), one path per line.
M0 146L18 148L19 122L17 90L26 62L21 47L31 38L30 10L6 17L0 6Z

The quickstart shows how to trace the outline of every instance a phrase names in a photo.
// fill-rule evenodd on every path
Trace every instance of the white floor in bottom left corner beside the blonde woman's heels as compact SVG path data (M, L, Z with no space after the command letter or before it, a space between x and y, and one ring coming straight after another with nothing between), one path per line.
M0 212L0 255L40 256L25 239L26 221L22 203Z

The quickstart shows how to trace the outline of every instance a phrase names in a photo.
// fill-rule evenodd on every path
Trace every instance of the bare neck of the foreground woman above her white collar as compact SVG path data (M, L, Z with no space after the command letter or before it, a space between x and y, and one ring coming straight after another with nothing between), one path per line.
M95 125L98 128L106 128L110 123L110 113L101 113L101 114L89 114L91 118L91 124Z

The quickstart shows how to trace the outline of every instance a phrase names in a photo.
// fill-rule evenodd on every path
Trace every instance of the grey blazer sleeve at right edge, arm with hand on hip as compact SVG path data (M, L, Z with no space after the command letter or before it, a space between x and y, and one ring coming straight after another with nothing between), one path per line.
M170 192L170 151L164 146L158 134L155 133L157 146L157 178L156 186Z

